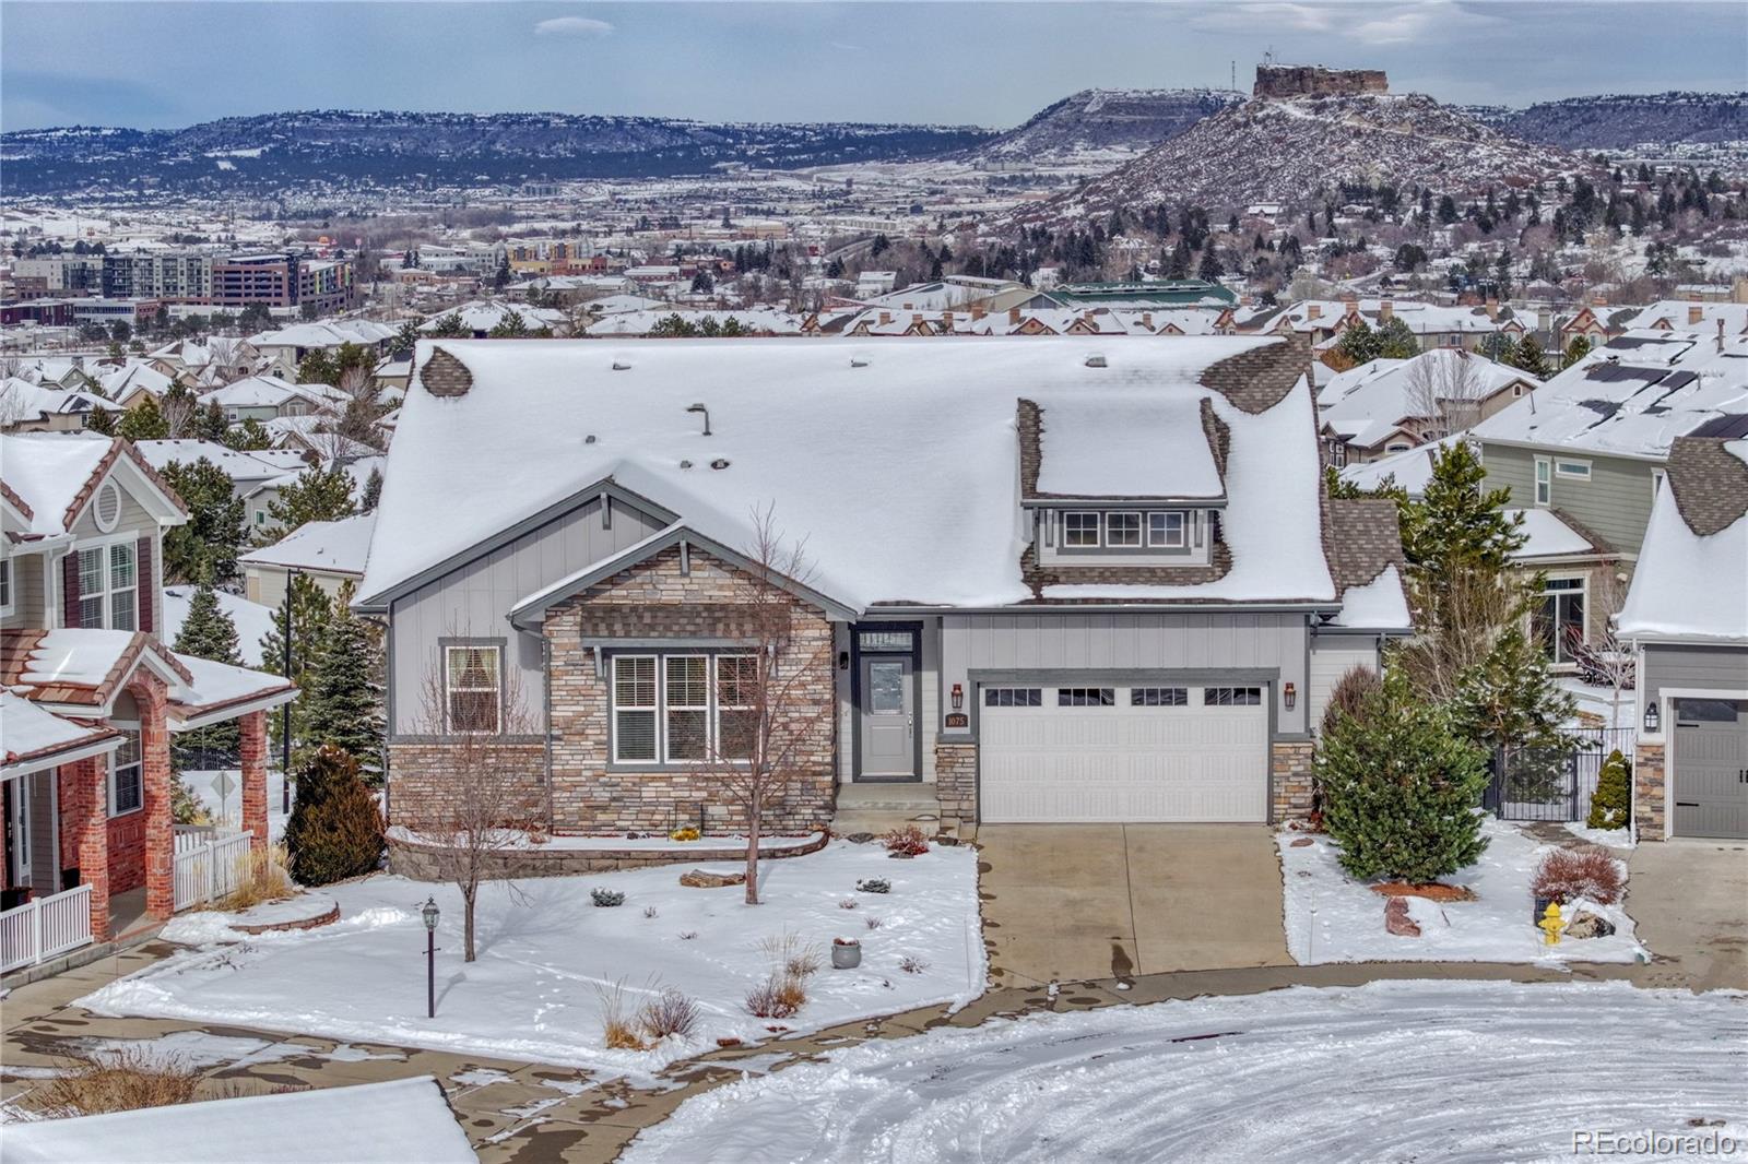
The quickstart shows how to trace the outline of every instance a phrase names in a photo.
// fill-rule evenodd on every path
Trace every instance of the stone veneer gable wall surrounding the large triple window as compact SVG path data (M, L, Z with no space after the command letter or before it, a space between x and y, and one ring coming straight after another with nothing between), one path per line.
M545 615L551 645L552 830L556 834L657 832L696 823L699 804L710 830L745 828L739 804L718 776L687 767L649 766L608 771L608 682L594 675L594 650L584 640L748 638L748 580L734 566L697 549L680 573L678 547L662 551ZM806 732L799 750L802 776L766 807L764 828L809 832L832 820L836 799L836 706L832 624L806 603L787 598L790 636L778 673L806 669L795 692L790 731Z

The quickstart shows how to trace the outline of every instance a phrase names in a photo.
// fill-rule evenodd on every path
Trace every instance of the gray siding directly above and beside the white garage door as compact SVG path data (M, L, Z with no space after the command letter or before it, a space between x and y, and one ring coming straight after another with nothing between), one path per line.
M1280 671L1306 690L1306 615L1245 612L1038 612L946 615L940 620L940 687L965 685L970 671ZM1280 704L1280 690L1273 692ZM1276 706L1276 732L1302 736L1306 703ZM951 739L960 732L942 731Z

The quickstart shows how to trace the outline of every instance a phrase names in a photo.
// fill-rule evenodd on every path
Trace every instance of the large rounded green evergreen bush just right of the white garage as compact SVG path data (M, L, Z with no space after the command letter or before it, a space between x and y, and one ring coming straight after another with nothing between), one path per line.
M1444 708L1418 699L1400 673L1341 715L1318 741L1323 827L1353 877L1425 883L1488 848L1481 797L1488 755L1451 729Z

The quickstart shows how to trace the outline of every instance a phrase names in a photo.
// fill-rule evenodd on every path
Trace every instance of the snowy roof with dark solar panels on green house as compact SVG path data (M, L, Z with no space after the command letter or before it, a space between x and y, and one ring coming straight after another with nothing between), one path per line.
M1482 442L1662 460L1669 444L1748 412L1748 337L1636 330L1610 339L1475 425Z

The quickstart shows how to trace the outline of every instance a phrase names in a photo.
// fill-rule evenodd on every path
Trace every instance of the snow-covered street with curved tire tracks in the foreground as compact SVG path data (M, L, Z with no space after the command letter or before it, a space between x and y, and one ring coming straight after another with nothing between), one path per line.
M1743 1078L1741 994L1292 987L862 1043L689 1099L621 1161L1566 1161L1587 1129L1741 1143Z

